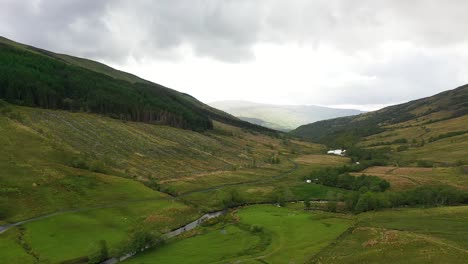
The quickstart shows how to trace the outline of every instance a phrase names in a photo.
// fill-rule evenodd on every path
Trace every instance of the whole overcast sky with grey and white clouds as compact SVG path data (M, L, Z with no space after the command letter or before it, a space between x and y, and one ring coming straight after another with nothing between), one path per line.
M0 35L204 102L364 110L468 83L466 0L0 0Z

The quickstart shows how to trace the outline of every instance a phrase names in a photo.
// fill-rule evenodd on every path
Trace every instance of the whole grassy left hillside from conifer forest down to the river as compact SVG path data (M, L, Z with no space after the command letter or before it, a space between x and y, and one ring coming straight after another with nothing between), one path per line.
M223 208L229 184L261 181L264 195L249 191L257 184L237 191L270 201L272 177L294 169L288 158L323 150L219 122L199 133L6 103L0 135L0 226L58 212L0 234L0 259L11 263L83 261L101 240L117 254L135 229L164 233Z

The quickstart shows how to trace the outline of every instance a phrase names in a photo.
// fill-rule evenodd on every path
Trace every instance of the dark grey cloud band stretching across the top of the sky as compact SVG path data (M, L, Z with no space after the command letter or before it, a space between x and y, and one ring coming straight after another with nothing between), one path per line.
M259 41L346 52L388 40L464 42L467 8L462 0L2 0L0 34L95 58L158 58L188 45L199 56L241 62Z

